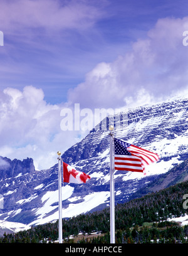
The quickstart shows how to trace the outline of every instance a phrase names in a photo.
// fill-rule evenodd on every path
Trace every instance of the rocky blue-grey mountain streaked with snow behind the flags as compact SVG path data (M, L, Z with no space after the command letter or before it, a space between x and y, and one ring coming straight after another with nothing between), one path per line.
M138 189L188 158L188 99L173 99L128 110L127 127L115 137L160 156L143 173L115 172L115 202L127 201ZM65 163L90 174L86 184L63 184L63 218L94 211L110 201L109 131L90 131L63 155ZM35 171L33 159L0 159L0 220L38 225L58 219L58 166Z

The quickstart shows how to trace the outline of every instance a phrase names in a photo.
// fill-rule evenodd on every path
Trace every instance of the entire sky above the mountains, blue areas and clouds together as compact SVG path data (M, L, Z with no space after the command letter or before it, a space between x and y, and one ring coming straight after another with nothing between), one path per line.
M187 1L0 5L1 156L50 167L57 147L63 152L85 136L61 131L65 105L133 107L187 93Z

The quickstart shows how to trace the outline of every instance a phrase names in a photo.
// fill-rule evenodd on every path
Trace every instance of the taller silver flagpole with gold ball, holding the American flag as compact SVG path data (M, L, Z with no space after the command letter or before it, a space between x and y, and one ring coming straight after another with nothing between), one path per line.
M113 125L110 125L110 243L115 243L114 146Z

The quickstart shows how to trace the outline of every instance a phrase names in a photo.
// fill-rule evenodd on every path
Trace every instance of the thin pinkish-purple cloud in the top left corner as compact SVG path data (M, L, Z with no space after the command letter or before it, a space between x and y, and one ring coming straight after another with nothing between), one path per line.
M23 29L86 29L104 15L105 1L38 0L6 1L1 3L0 21L9 33L23 33ZM17 31L15 31L15 26ZM28 37L31 36L27 33Z

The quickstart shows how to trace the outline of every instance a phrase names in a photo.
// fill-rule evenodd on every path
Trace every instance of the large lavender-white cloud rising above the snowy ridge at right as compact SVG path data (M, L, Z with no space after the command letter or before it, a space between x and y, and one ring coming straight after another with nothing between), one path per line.
M126 55L87 73L85 82L70 90L69 101L82 107L132 107L187 90L188 47L182 43L187 26L188 17L159 19Z

